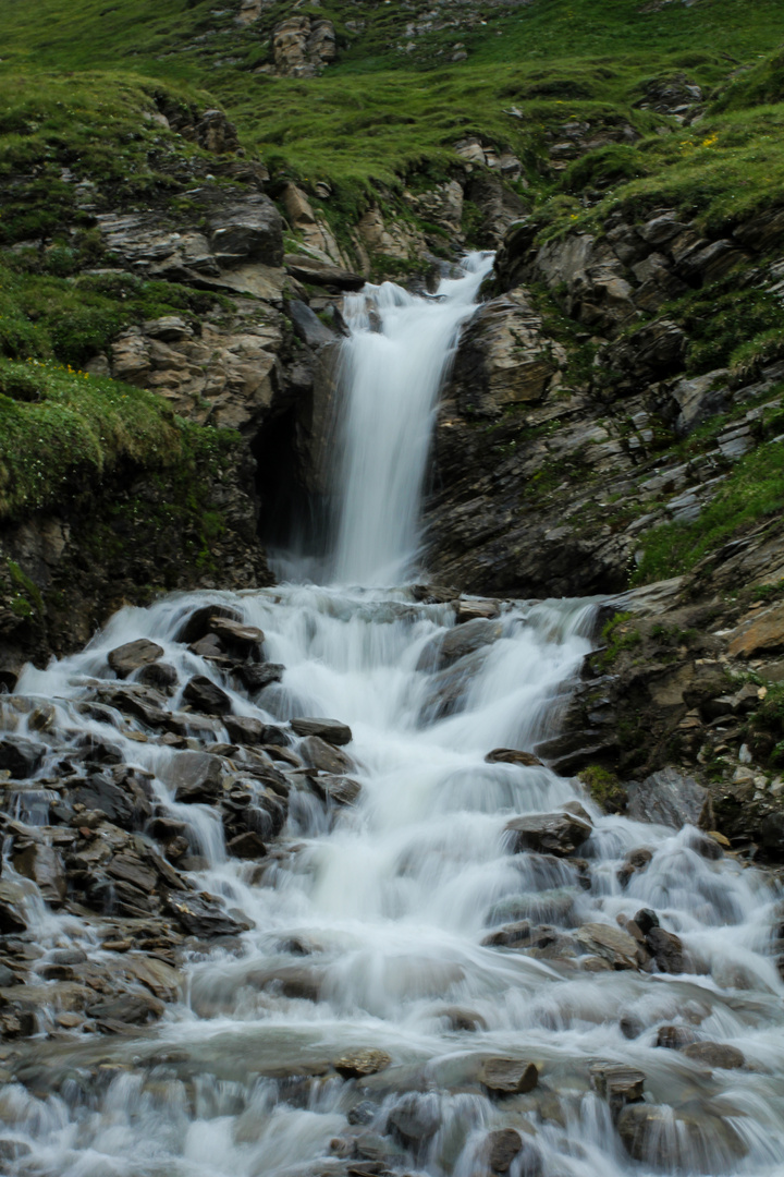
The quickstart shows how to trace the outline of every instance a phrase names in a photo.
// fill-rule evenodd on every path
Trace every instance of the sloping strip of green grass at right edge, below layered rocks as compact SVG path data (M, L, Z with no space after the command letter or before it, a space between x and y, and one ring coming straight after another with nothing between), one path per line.
M641 540L632 586L681 576L742 527L784 508L784 444L769 441L737 463L722 490L691 524L654 527Z

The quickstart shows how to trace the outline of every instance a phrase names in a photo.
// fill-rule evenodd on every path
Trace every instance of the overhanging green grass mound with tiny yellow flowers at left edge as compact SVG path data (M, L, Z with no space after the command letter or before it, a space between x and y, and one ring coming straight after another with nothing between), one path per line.
M123 465L182 467L192 478L235 444L230 431L182 421L142 388L52 361L0 360L0 519L62 504Z

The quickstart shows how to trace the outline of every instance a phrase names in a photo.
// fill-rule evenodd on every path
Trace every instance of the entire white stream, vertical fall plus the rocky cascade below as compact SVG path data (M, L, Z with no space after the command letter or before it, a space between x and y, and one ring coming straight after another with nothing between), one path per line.
M1 1172L784 1173L777 890L695 829L605 816L577 782L485 759L536 752L557 732L596 604L469 599L457 624L450 603L377 586L415 554L428 423L485 267L470 261L443 301L382 287L349 308L355 398L336 584L123 610L85 652L20 679L20 697L54 706L43 731L26 712L16 729L47 750L39 777L55 745L119 746L150 774L159 813L186 830L196 890L249 930L188 950L181 1000L149 1029L56 1029L45 1011L18 1082L0 1091ZM420 333L433 352L424 374ZM368 366L380 373L373 388L360 379ZM363 587L346 587L354 581ZM243 689L177 640L205 603L263 630L280 681ZM173 667L165 710L181 711L200 674L235 717L350 726L327 776L301 767L296 737L269 750L288 820L261 862L227 855L214 806L174 799L173 742L143 718L85 705L115 681L107 653L139 638ZM222 720L193 731L242 773L247 753L226 749ZM347 779L360 790L330 793ZM45 792L16 816L52 829ZM507 830L536 814L571 822L576 847L556 838L537 852ZM27 886L45 959L81 949L110 967L99 920L52 911ZM669 958L644 920L623 931L641 909L672 933ZM718 1055L689 1052L698 1043Z

